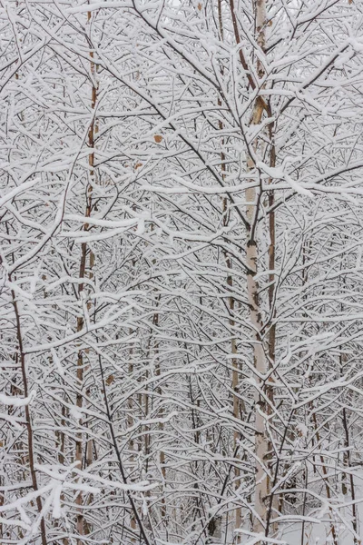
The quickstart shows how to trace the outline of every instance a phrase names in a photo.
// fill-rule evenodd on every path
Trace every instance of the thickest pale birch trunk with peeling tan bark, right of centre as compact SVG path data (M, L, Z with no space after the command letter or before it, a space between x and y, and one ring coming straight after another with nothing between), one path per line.
M231 8L231 20L233 33L235 36L236 43L240 45L240 31L239 31L239 22L238 16L236 14L234 0L230 0ZM260 47L260 50L263 52L265 50L266 42L266 0L256 0L254 5L255 10L255 21L256 21L256 35L257 35L257 44ZM248 79L250 88L253 91L256 91L257 84L252 78L252 75L249 70L249 65L246 61L246 57L243 54L243 49L239 47L240 55L240 64L242 65L245 74ZM261 64L260 60L257 60L257 74L261 79L264 75L264 67ZM265 102L260 96L257 96L255 104L253 105L253 111L250 118L250 124L260 124L262 115L264 111L268 110ZM269 114L269 112L268 112ZM272 127L270 127L270 132L272 132ZM271 134L270 134L271 136ZM256 141L252 144L252 149L255 153L259 152L260 142L257 137ZM274 151L273 157L271 154L271 161L275 162ZM247 156L247 166L249 170L255 168L255 163L251 153L248 153ZM256 393L255 393L255 492L254 492L254 516L252 520L253 530L257 533L263 534L266 529L266 520L267 520L267 504L266 500L269 495L270 490L270 480L269 473L267 471L266 464L268 462L269 451L270 451L270 440L269 435L266 429L266 419L269 412L269 405L265 401L265 396L268 395L267 388L265 387L264 382L261 380L261 376L266 376L269 370L269 360L270 362L274 361L275 357L275 344L276 344L276 333L274 326L270 330L270 339L269 349L265 352L265 347L262 340L262 317L260 312L260 296L259 296L259 282L256 279L256 274L258 272L258 243L257 240L257 225L258 225L258 214L261 203L260 191L254 186L250 186L246 190L246 215L249 223L247 229L246 237L246 265L248 268L247 272L247 292L248 292L248 301L250 307L250 325L252 329L253 337L253 363L254 368L256 369L255 381L256 381ZM270 203L273 203L273 196L270 196ZM274 266L275 262L275 218L272 213L270 214L270 249L269 249L269 266ZM272 270L272 269L270 269ZM270 274L270 282L273 282L272 273ZM270 304L273 302L274 292L273 288L269 292ZM271 396L270 388L270 396Z

